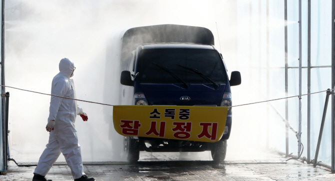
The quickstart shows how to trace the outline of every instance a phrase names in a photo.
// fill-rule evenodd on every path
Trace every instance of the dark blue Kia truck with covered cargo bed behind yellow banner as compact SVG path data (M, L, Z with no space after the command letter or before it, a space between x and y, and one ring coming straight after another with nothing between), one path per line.
M241 83L240 73L230 80L212 32L204 27L161 24L134 27L122 36L120 83L123 105L231 106L230 86ZM215 162L225 158L231 131L231 107L219 141L201 142L124 136L129 162L139 151L205 151Z

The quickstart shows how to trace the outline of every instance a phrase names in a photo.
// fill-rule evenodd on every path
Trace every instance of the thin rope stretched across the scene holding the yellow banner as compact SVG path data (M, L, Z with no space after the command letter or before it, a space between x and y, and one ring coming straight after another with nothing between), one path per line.
M16 87L7 86L7 85L0 85L0 86L4 86L4 87L8 87L8 88L14 88L14 89L23 90L23 91L28 91L28 92L33 92L33 93L39 93L39 94L43 94L43 95L51 95L51 96L56 96L56 97L60 97L60 98L67 98L67 99L77 100L77 101L82 101L82 102L89 102L89 103L96 103L96 104L100 104L100 105L114 106L114 105L107 104L107 103L99 103L99 102L93 102L93 101L81 100L81 99L76 99L76 98L63 97L63 96L59 96L59 95L52 95L52 94L41 93L41 92L32 91L32 90L25 90L25 89L22 89L22 88L16 88ZM237 106L242 106L242 105L250 105L250 104L255 104L255 103L262 103L262 102L269 102L269 101L274 101L274 100L280 100L280 99L285 99L285 98L299 97L299 96L304 96L304 95L309 95L309 94L314 94L314 93L325 92L325 91L328 91L328 90L329 90L329 91L332 91L332 90L335 90L335 89L327 89L327 90L322 90L322 91L313 92L313 93L306 93L306 94L302 94L302 95L294 95L294 96L289 96L289 97L275 98L275 99L264 100L264 101L258 101L258 102L252 102L252 103L245 103L245 104L240 104L240 105L232 105L232 106L228 106L228 107L237 107Z

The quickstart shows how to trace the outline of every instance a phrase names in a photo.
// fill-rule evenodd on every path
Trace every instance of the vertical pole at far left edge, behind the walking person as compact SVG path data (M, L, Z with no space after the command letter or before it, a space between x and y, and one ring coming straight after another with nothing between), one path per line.
M1 84L4 85L4 0L1 0ZM2 121L2 144L3 144L3 172L6 172L6 163L7 163L7 145L5 145L5 107L6 100L2 96L5 93L5 89L1 86L1 121Z

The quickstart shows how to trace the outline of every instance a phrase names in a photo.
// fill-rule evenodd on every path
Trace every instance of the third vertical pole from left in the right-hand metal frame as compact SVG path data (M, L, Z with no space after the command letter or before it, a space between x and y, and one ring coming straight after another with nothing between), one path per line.
M307 163L310 161L310 0L308 0L308 47L307 47Z

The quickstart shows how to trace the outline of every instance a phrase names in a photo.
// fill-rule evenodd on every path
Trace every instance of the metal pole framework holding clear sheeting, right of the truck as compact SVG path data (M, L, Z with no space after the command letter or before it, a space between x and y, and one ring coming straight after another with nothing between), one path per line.
M311 24L311 0L308 0L308 34L307 34L307 66L301 66L301 0L299 0L299 66L288 67L287 65L287 0L284 3L284 16L285 16L285 94L287 96L288 83L287 83L287 70L288 68L299 68L299 130L298 130L298 157L300 157L301 149L301 69L307 68L307 163L310 161L310 69L311 68L322 68L331 67L331 89L335 88L335 1L332 0L332 14L331 14L331 66L311 66L310 65L310 24ZM283 68L283 67L279 67ZM328 97L327 92L327 97ZM327 103L327 99L326 102ZM325 105L326 107L326 105ZM314 166L316 164L331 168L331 172L335 173L335 94L334 91L331 93L331 167L326 164L316 163L317 154L315 153ZM323 110L323 114L325 114ZM286 99L285 103L285 120L288 121L288 103ZM322 116L322 122L324 122L324 115ZM321 127L322 127L321 122ZM320 134L322 129L320 128ZM319 135L319 139L320 139ZM317 152L319 149L319 142L317 145ZM288 138L287 138L287 124L286 124L286 156L288 154Z

